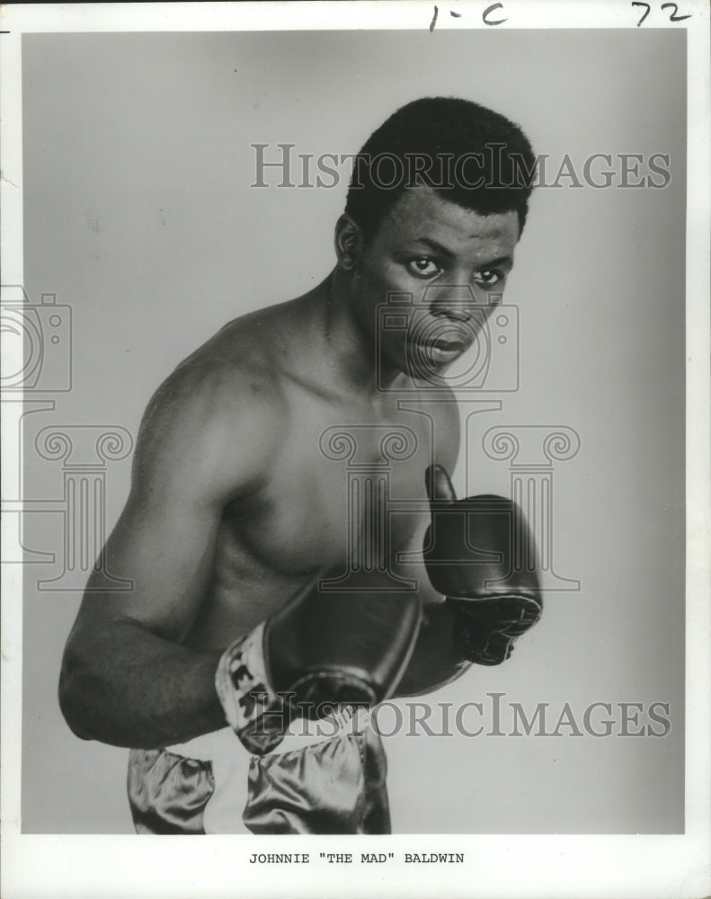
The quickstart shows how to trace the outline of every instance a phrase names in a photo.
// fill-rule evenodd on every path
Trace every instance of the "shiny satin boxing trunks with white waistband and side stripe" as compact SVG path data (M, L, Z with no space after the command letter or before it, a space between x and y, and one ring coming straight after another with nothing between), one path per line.
M386 773L369 710L345 708L263 755L230 727L131 750L129 804L138 833L389 833Z

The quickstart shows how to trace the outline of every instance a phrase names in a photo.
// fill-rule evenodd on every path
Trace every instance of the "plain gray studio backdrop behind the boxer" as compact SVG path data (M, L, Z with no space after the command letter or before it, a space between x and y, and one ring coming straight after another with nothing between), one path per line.
M550 589L509 663L429 698L455 712L481 702L483 717L468 707L460 724L483 734L427 735L403 701L386 709L386 732L395 708L404 716L386 740L394 830L683 830L685 60L683 32L635 29L24 37L25 288L36 305L56 295L64 329L58 344L45 334L25 415L37 502L24 544L53 554L26 567L25 832L131 830L127 753L69 732L57 680L86 554L126 498L149 396L228 319L297 296L333 265L344 180L282 189L270 174L252 188L250 145L353 153L397 106L434 94L518 121L553 177L565 154L581 177L588 157L611 154L618 174L609 189L568 177L536 192L506 296L520 388L485 395L501 405L478 412L462 396L475 414L459 491L509 494L519 476L554 485L541 525ZM643 155L644 174L655 153L670 156L666 187L620 186L616 155ZM50 305L36 318L48 333ZM58 390L69 328L71 389ZM492 428L518 435L517 458L511 441L486 449ZM494 693L504 736L487 735ZM595 702L611 704L591 717L600 733L615 721L609 737L583 726ZM649 725L657 702L667 734L621 735ZM568 723L508 735L514 703L529 717L547 703L547 732ZM627 725L620 703L642 707Z

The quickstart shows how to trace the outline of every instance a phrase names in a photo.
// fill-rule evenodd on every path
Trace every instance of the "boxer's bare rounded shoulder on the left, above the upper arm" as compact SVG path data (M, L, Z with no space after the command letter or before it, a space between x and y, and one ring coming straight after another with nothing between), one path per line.
M171 491L225 503L268 478L287 416L258 327L253 316L226 325L158 387L141 423L134 484L156 493L168 481Z

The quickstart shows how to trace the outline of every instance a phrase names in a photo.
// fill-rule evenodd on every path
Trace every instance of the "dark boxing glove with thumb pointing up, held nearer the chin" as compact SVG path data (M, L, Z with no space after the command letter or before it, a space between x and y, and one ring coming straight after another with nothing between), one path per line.
M423 558L432 586L455 610L454 644L468 662L498 665L543 609L533 535L511 500L458 500L440 465L425 477L431 524Z

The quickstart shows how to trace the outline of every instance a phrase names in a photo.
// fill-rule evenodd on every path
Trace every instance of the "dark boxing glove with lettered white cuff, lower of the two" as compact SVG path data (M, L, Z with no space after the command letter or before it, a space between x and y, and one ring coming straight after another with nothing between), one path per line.
M363 575L356 587L308 584L222 655L218 697L251 752L273 748L293 717L392 696L420 629L420 598L393 591L378 574Z

